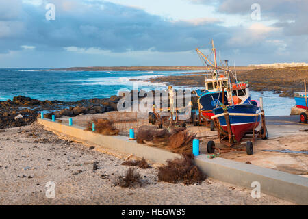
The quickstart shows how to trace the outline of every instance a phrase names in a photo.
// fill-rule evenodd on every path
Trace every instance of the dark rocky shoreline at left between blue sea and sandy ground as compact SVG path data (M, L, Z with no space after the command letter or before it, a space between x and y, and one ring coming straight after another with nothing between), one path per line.
M116 110L120 97L89 99L75 102L40 101L26 96L15 96L13 100L0 101L0 129L30 125L40 112L44 118L97 114Z

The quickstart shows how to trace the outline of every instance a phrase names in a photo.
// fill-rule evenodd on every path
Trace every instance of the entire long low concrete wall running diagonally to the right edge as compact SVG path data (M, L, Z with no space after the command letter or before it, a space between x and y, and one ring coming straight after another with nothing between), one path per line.
M179 154L170 151L138 144L125 136L103 136L91 131L84 131L84 127L68 126L46 118L38 118L38 123L67 136L92 142L104 148L116 149L122 153L144 157L153 162L165 163L167 159L180 157ZM207 155L195 157L195 162L207 176L213 179L250 189L252 189L251 183L257 181L264 194L299 205L308 205L308 178L251 164L242 164L229 159L209 159Z

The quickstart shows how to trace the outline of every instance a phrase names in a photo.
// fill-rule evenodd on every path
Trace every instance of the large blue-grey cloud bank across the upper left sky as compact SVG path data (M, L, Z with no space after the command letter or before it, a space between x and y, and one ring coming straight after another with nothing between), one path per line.
M226 31L213 18L174 22L138 8L114 3L51 2L55 4L55 21L44 19L47 12L44 3L25 3L15 27L0 23L3 27L0 38L11 37L10 41L18 47L33 44L36 49L45 51L61 50L63 47L95 47L113 52L150 48L157 51L188 51L216 38L217 33ZM222 42L225 37L220 35L217 40Z

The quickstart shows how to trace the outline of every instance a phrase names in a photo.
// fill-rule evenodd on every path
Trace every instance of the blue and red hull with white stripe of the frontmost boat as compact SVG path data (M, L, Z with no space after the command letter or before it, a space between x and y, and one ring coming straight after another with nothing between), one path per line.
M228 106L227 110L229 113L241 113L241 114L257 114L260 111L260 108L253 104L241 104L241 105L232 105ZM214 114L223 114L224 110L222 107L216 108L213 110ZM229 116L231 131L235 136L235 140L240 142L240 140L245 136L246 133L253 131L256 128L261 120L261 116ZM220 127L227 132L227 123L224 116L218 117Z

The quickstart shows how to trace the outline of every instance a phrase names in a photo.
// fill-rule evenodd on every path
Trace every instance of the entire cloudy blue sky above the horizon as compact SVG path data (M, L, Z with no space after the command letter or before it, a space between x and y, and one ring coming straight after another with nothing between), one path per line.
M53 8L54 6L54 8ZM308 0L0 0L0 68L308 62ZM54 15L54 16L53 16Z

